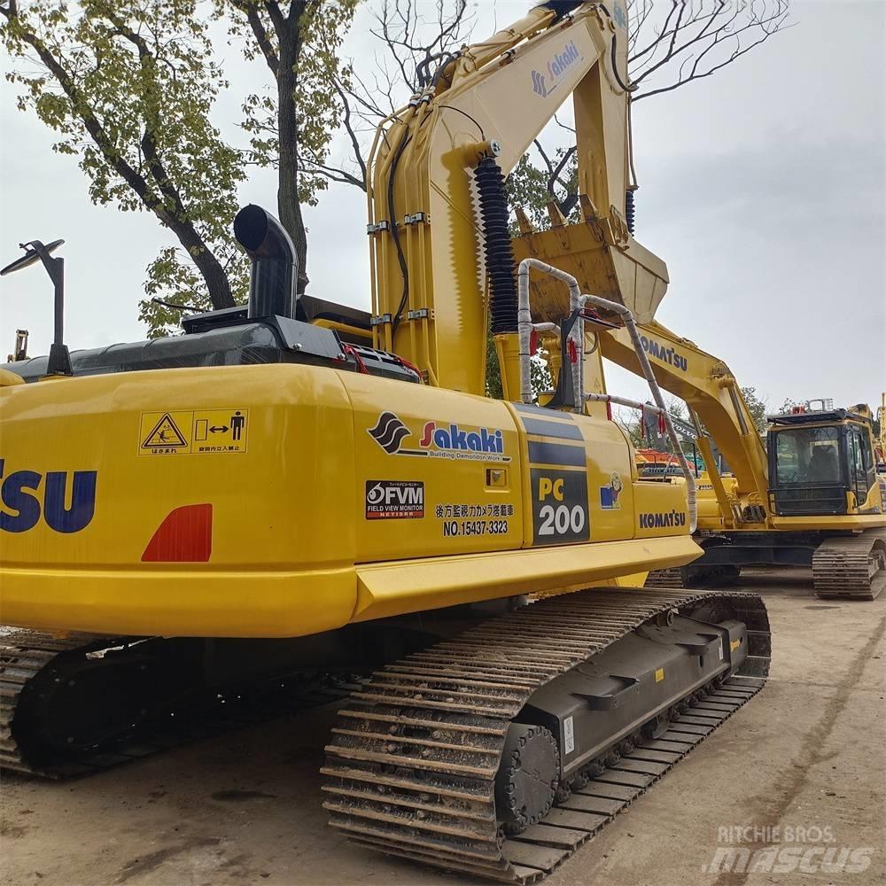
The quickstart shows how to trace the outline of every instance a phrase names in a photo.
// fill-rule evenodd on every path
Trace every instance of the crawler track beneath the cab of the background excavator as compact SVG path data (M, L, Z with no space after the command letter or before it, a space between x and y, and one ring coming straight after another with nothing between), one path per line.
M815 595L874 600L886 587L886 529L823 541L812 555Z

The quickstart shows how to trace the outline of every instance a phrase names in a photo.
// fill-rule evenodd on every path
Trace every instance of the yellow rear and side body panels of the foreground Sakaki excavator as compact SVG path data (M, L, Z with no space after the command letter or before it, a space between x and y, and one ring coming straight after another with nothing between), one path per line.
M298 636L699 553L682 487L633 478L590 416L295 364L12 385L0 408L6 624ZM200 449L225 413L247 416L237 446L229 424ZM182 509L211 515L208 542L164 536Z

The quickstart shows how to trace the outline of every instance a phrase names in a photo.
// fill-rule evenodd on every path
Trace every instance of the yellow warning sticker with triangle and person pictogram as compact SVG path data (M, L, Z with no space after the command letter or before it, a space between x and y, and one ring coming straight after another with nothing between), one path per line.
M139 455L201 455L246 451L248 409L143 412Z

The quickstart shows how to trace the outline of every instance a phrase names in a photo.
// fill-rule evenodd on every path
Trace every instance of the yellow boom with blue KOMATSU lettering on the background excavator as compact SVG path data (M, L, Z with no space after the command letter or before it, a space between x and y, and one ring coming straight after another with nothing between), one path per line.
M603 357L641 374L627 330L602 331L598 337ZM726 363L654 321L641 326L641 341L658 384L685 400L696 427L701 423L707 432L708 436L699 433L696 445L711 477L724 524L732 528L761 524L766 528L769 517L766 447L742 390ZM734 472L735 496L727 495L723 486L709 437L716 441Z

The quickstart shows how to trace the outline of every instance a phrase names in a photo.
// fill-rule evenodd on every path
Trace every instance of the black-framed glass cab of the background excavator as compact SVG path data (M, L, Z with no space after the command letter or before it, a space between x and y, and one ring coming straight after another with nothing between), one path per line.
M769 416L769 422L769 498L774 514L881 512L866 416L830 409Z

